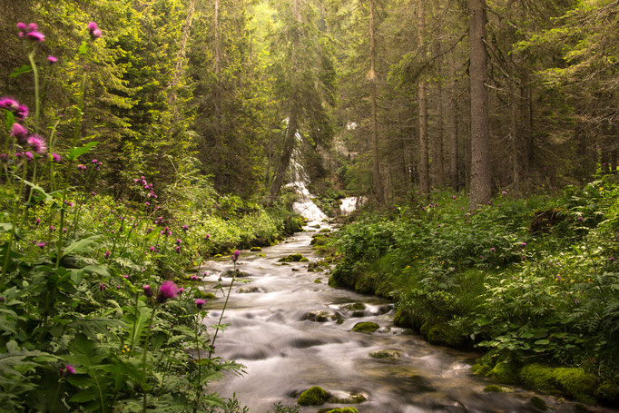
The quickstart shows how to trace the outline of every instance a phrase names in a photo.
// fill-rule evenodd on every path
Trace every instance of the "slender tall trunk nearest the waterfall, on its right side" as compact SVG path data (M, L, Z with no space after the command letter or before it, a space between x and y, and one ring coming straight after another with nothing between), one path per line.
M380 162L378 158L378 120L377 120L377 75L376 75L376 24L374 21L374 0L369 0L369 82L372 101L372 179L374 196L379 204L385 203Z

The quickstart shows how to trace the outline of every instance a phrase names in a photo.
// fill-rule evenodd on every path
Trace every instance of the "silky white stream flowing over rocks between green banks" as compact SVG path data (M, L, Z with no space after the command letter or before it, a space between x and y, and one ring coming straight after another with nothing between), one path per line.
M408 329L395 327L388 300L332 289L327 273L309 271L308 262L278 262L292 253L318 260L309 241L319 229L306 230L261 252L241 253L238 268L250 276L234 282L223 317L230 327L220 332L216 355L243 364L246 374L230 374L211 389L226 397L236 392L252 413L273 411L279 401L293 406L300 392L311 386L321 386L337 398L362 395L367 400L356 405L320 407L355 406L361 413L539 411L530 405L533 396L543 398L550 410L574 410L573 402L522 388L485 393L483 388L490 382L469 371L475 353L432 346ZM210 276L205 281L215 284L221 272L231 268L229 259L209 261ZM230 281L224 276L222 282L230 285ZM215 300L204 322L217 322L222 302ZM362 303L365 309L355 310L349 306L352 303ZM359 321L376 322L380 329L350 331ZM396 350L392 354L399 357L369 356L381 350ZM318 410L301 408L303 413Z

